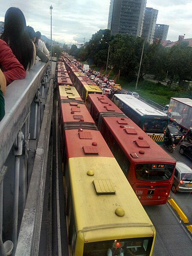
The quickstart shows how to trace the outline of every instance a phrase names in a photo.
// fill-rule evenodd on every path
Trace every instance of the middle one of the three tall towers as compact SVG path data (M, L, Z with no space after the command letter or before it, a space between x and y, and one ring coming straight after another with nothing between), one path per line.
M153 43L157 15L158 10L146 7L142 35L149 44Z

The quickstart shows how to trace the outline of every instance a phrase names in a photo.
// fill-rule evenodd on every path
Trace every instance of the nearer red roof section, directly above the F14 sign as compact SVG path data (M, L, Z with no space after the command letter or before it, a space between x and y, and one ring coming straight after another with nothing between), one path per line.
M175 160L154 142L130 118L103 117L103 121L125 154L135 162L150 160L175 163Z

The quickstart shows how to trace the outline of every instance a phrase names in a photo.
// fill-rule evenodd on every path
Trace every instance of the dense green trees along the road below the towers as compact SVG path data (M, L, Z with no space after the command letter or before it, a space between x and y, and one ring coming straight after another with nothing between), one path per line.
M143 58L140 66L143 45ZM162 86L165 79L170 79L172 85L169 90L172 93L183 93L180 81L192 81L192 47L188 47L185 42L178 42L174 47L164 48L160 41L150 45L146 41L144 43L144 38L136 38L128 34L111 36L110 30L100 29L92 35L89 42L76 49L75 52L77 55L74 52L70 55L78 56L80 61L87 61L89 65L94 64L95 68L98 68L102 73L105 73L108 59L108 72L111 72L109 67L113 70L111 72L113 75L110 74L111 79L118 79L120 74L119 81L126 80L125 87L131 82L136 83L139 67L139 89L141 85L142 88L145 87L144 76L146 74L152 75L156 79L157 84L155 86L158 85L159 87ZM179 82L179 84L175 82ZM154 93L154 97L162 93L166 98L169 98L172 93L169 91L166 95L164 90L167 91L167 87L162 90L152 88L150 91Z

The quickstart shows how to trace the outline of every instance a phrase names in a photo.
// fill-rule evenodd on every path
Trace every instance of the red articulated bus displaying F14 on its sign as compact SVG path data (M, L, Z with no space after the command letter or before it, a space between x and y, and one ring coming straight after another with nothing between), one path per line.
M107 96L90 94L87 108L141 204L166 204L176 161Z

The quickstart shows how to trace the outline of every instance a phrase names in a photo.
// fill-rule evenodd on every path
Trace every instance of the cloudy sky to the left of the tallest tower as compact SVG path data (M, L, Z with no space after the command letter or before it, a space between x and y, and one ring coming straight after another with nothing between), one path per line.
M11 7L21 9L26 23L35 31L50 38L50 10L52 5L52 39L61 43L81 44L89 41L99 29L106 29L110 0L9 0L0 8L0 20Z

